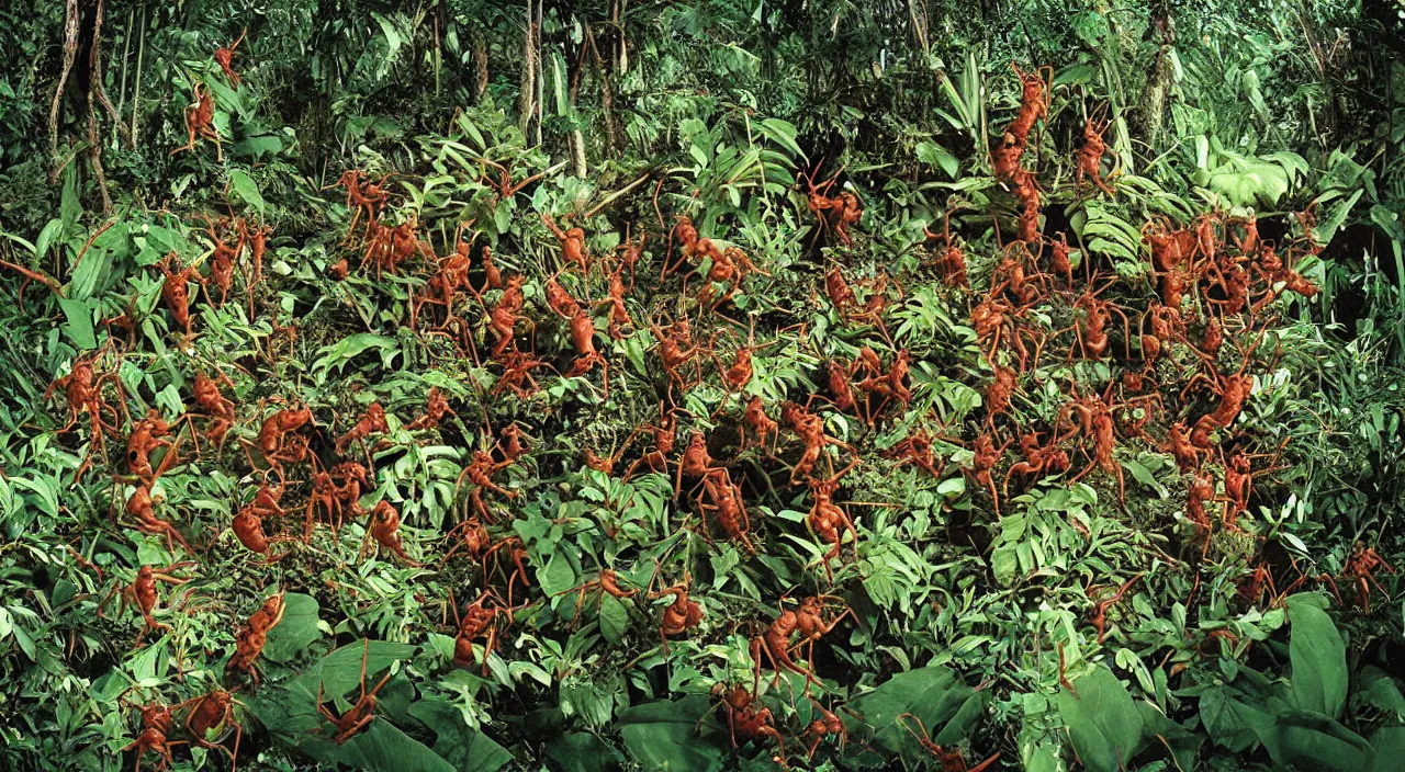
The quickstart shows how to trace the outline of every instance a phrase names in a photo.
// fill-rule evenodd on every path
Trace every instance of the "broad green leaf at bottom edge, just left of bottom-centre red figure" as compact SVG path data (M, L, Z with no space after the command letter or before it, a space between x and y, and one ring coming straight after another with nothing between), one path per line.
M677 702L649 702L622 710L615 720L624 747L645 769L701 772L722 768L722 745L695 734L708 713L701 695Z

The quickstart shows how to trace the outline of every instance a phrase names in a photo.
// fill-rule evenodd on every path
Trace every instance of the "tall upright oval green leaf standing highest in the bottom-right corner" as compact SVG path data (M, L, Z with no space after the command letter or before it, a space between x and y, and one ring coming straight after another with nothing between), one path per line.
M1293 695L1302 710L1338 719L1346 705L1346 644L1332 618L1311 601L1305 594L1288 598Z

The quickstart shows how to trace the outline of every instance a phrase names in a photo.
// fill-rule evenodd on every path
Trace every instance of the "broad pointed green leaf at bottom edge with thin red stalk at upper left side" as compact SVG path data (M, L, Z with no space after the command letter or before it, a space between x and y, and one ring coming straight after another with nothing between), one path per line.
M1058 695L1058 713L1078 758L1093 772L1117 772L1142 745L1142 717L1121 681L1097 665L1075 684L1078 695Z

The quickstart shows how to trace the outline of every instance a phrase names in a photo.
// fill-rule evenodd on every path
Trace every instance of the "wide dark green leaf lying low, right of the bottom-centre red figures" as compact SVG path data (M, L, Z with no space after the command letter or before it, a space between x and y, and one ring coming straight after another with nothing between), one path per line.
M961 684L944 667L917 668L894 675L873 692L854 699L850 709L860 716L844 717L851 734L870 745L919 759L926 751L912 733L926 730L939 745L962 740L985 709L985 693ZM898 717L903 713L912 716L899 723ZM922 721L920 727L917 721Z

